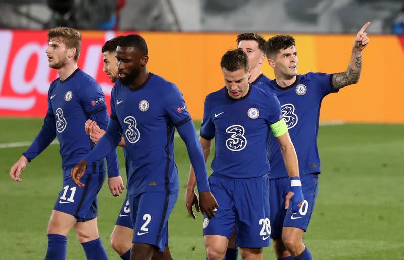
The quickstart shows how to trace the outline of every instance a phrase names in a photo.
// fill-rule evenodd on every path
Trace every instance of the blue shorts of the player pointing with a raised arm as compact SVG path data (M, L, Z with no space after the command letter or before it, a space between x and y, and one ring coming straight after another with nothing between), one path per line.
M283 227L295 227L306 232L312 216L318 193L318 174L302 174L300 176L304 202L299 212L292 213L292 204L285 209L285 197L290 190L290 178L283 177L269 180L269 203L271 206L271 238L281 239Z

